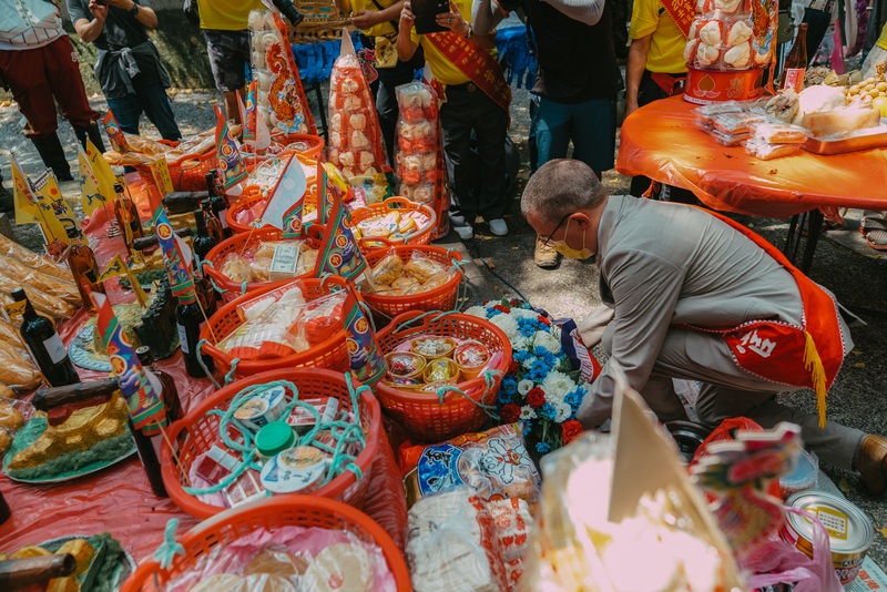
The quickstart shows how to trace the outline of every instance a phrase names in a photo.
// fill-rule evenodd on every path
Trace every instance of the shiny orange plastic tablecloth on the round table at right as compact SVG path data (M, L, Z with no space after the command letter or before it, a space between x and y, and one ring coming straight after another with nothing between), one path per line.
M692 191L715 210L784 218L816 207L887 210L887 150L759 161L693 125L696 105L655 101L622 124L616 171Z

